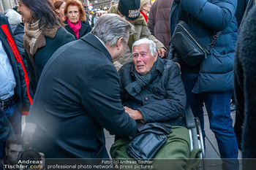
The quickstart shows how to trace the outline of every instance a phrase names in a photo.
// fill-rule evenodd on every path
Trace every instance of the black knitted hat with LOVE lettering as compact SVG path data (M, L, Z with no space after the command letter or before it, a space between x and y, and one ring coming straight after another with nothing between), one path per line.
M140 16L140 0L119 0L118 11L128 20L136 20Z

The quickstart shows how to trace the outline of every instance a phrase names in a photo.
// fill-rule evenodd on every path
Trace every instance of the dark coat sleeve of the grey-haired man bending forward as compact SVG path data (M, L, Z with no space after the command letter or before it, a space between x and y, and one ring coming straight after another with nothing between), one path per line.
M137 126L124 112L119 96L119 76L114 66L102 66L91 75L83 90L82 104L91 117L111 133L125 138L135 136Z

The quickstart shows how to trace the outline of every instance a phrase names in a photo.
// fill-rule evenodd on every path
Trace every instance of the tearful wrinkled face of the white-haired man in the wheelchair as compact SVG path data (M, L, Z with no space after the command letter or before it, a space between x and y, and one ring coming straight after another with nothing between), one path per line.
M157 55L152 56L149 50L149 45L142 44L133 47L132 60L135 65L135 70L145 75L152 69L154 62L157 61Z

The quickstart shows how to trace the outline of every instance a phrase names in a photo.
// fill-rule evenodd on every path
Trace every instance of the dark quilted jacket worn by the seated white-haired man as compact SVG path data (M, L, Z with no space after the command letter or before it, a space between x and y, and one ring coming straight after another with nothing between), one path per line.
M137 81L134 64L130 62L119 69L121 101L124 106L138 109L145 123L182 117L187 100L178 65L161 58L157 58L154 65L150 82L140 90L133 87Z

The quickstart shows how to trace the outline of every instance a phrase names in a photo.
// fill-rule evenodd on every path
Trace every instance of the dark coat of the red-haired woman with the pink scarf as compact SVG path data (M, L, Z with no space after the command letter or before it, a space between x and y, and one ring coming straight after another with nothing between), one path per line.
M91 32L91 26L90 26L90 24L89 24L89 22L87 20L81 21L81 28L79 30L79 36L78 37L75 35L75 32L72 30L72 28L70 28L69 24L67 23L67 20L65 20L64 23L67 24L67 26L65 26L67 31L69 31L70 34L75 36L75 39L78 39L78 37L80 39L82 36L84 36L87 33Z

